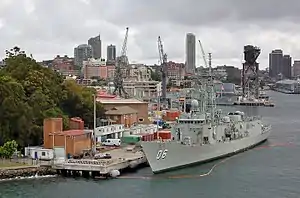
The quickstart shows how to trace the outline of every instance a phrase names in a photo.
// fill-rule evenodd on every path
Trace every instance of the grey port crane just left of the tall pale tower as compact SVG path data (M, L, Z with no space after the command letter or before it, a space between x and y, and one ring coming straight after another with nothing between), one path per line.
M159 52L159 62L161 65L161 84L162 84L162 100L165 101L167 98L167 64L168 64L168 57L167 54L164 52L164 47L161 41L161 37L158 36L157 40L158 44L158 52Z

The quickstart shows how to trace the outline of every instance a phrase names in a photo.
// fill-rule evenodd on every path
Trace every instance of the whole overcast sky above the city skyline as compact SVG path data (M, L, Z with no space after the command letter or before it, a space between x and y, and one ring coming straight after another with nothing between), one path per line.
M243 46L268 53L282 48L300 59L299 0L0 0L0 56L15 45L37 60L73 56L74 47L101 34L102 55L115 44L120 52L129 27L130 62L157 63L157 36L169 60L184 62L185 35L201 39L213 65L239 66ZM197 65L203 65L196 44Z

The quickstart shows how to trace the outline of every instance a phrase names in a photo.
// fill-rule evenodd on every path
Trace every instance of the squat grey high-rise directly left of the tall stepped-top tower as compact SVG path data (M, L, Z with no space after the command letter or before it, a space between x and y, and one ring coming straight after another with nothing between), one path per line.
M82 44L74 48L74 63L82 68L83 61L87 61L93 57L93 49L91 45Z

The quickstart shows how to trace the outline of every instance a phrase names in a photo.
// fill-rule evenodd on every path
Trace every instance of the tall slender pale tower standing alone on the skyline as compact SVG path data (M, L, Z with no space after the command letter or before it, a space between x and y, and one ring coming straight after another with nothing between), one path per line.
M192 33L186 35L185 72L194 74L196 70L196 36Z

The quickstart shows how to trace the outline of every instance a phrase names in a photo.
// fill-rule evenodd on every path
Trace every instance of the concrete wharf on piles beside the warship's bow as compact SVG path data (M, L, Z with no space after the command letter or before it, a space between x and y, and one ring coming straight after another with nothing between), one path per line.
M147 162L142 151L118 148L103 154L106 153L110 154L111 159L68 159L62 163L54 164L52 168L62 175L116 177L122 170L135 169Z

